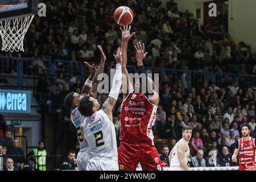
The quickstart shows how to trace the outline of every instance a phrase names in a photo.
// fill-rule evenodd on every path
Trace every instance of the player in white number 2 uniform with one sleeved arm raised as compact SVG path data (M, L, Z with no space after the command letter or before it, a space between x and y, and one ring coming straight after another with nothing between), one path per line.
M119 90L122 85L122 49L117 49L115 56L117 65L113 85L108 99L102 105L89 96L85 96L79 102L78 110L88 117L80 130L82 136L89 143L88 171L118 171L117 140L113 123L112 110L117 102Z

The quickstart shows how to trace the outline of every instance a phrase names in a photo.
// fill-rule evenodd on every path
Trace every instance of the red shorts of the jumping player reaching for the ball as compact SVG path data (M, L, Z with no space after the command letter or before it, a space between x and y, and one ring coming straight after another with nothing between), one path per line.
M144 143L121 142L118 149L119 170L136 171L139 163L141 163L143 171L163 171L155 146Z

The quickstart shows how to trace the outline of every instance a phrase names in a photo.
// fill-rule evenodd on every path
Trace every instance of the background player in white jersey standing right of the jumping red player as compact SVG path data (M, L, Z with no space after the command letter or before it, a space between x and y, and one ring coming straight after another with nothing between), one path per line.
M169 155L170 168L168 171L189 171L188 160L190 156L189 151L189 140L192 135L192 127L184 126L182 130L182 138L177 142L172 148L172 151Z

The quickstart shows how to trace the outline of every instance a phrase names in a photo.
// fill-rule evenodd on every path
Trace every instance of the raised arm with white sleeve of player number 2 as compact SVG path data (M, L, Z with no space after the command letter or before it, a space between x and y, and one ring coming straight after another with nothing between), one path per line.
M109 93L108 99L102 105L102 110L105 111L112 119L112 110L117 102L119 91L122 85L122 49L118 47L117 55L114 55L117 65L115 67L115 76L113 79L112 88Z

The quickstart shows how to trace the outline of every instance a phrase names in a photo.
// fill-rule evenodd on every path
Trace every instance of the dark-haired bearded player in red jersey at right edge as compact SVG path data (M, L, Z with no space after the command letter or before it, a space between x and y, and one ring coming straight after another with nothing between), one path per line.
M236 143L236 149L232 155L232 161L237 162L237 155L239 154L239 171L245 171L247 167L253 167L256 161L255 138L250 137L250 126L247 123L241 125L242 138Z

